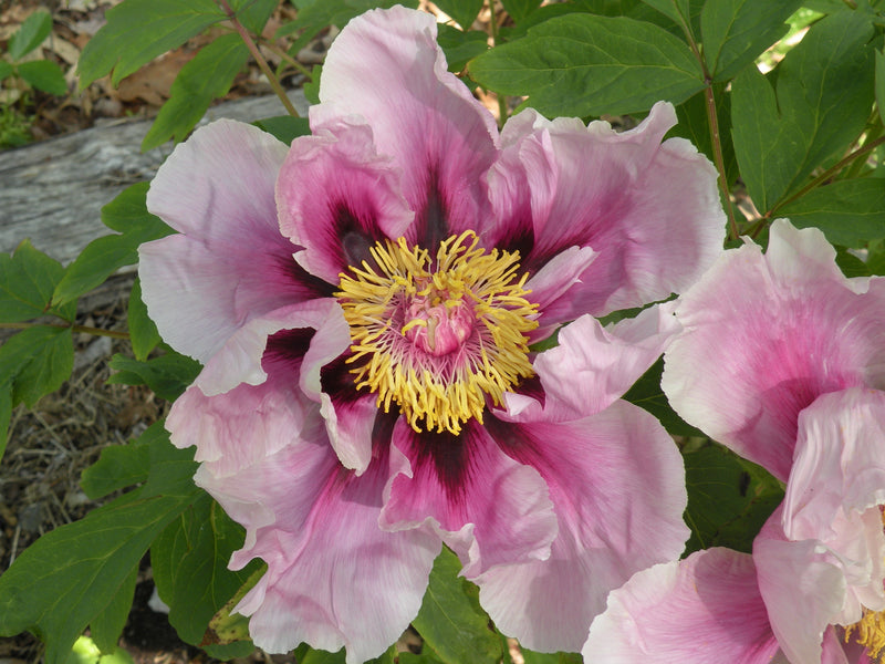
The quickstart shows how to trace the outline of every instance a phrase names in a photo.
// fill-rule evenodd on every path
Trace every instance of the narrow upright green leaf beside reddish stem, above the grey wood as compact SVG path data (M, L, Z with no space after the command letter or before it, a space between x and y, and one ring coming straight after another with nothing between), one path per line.
M184 141L209 104L225 96L233 77L249 60L249 49L237 33L225 34L202 48L175 77L169 98L142 142L142 152L169 138Z

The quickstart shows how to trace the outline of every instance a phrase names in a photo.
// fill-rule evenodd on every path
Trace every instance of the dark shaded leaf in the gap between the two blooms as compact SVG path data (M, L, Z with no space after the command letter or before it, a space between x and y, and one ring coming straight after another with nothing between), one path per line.
M686 553L709 547L749 552L762 523L783 499L763 468L720 445L684 454L691 537Z

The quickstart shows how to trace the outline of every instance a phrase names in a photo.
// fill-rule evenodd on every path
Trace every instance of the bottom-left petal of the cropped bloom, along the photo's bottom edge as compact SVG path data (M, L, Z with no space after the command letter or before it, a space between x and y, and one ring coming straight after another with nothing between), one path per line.
M583 655L593 664L787 664L752 558L721 548L655 566L613 591Z

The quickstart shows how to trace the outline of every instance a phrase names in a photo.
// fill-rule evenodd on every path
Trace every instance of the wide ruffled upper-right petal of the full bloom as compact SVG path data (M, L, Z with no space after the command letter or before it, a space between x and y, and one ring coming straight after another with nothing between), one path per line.
M621 134L531 110L504 126L488 178L493 242L519 249L532 272L572 246L598 253L556 308L561 322L665 299L721 252L716 169L687 141L662 143L675 123L673 106L658 103Z

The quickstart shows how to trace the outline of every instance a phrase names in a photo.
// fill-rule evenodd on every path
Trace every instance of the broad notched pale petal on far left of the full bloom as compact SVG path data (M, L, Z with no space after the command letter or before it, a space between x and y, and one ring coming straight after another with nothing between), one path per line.
M184 235L142 245L142 292L163 339L206 362L249 320L329 287L292 259L273 185L287 147L247 124L218 121L178 145L147 207Z

